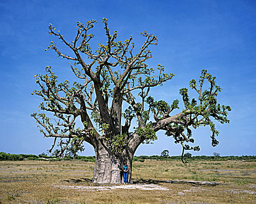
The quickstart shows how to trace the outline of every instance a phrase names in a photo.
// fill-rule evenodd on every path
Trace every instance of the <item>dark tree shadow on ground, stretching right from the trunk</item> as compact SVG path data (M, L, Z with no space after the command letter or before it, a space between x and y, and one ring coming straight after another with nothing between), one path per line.
M210 186L210 187L215 187L216 185L223 185L219 182L209 182L209 181L164 181L164 180L144 180L144 179L139 179L139 180L133 180L133 184L188 184L192 185L193 187L198 187L198 186Z

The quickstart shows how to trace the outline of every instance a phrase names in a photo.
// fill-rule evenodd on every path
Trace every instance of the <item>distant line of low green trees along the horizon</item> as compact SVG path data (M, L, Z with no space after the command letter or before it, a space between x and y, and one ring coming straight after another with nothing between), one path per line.
M9 154L0 152L0 161L22 161L22 160L82 160L82 161L95 161L95 156L66 156L64 159L57 158L56 156L47 156L44 153L37 155L34 154ZM181 156L134 156L133 161L144 160L181 160ZM186 161L199 161L199 160L210 160L210 161L227 161L227 160L245 160L245 161L256 161L256 156L192 156L190 153L184 154Z

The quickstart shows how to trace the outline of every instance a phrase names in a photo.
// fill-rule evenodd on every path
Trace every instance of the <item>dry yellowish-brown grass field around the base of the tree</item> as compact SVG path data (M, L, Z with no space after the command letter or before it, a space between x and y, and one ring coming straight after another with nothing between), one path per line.
M256 162L135 161L133 184L97 185L94 163L0 161L0 203L256 203Z

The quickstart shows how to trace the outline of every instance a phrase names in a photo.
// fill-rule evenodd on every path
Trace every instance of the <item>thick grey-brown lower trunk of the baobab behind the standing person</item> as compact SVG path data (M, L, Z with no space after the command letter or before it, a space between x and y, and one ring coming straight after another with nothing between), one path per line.
M98 145L95 148L95 167L93 182L101 184L123 183L123 163L129 165L129 183L132 181L132 159L133 154L124 150L122 154L115 155L104 146Z

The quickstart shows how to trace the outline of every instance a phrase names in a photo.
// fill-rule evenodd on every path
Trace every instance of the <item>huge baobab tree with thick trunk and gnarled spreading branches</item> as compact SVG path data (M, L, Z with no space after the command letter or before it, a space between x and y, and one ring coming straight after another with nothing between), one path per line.
M148 67L147 61L152 57L149 47L157 45L157 37L142 32L145 41L135 49L133 37L117 41L117 31L110 34L108 20L104 18L102 22L106 42L99 43L96 50L92 48L94 35L90 33L96 20L86 24L77 22L77 34L71 42L49 24L49 34L64 46L60 49L52 41L46 50L54 50L58 57L67 59L77 77L72 85L68 80L57 82L50 66L46 67L45 75L35 75L40 90L32 94L40 96L43 102L39 106L42 111L34 112L32 117L44 136L54 138L49 152L56 144L61 145L57 153L63 153L70 146L82 149L83 142L88 142L94 147L96 157L93 181L120 183L124 160L130 166L131 180L137 147L156 140L160 130L173 136L183 150L199 150L198 146L189 145L194 142L192 128L209 125L212 145L216 146L219 132L215 122L229 122L230 107L217 103L221 88L216 85L215 77L202 70L198 82L191 80L190 87L198 99L189 99L188 89L180 89L184 108L172 115L179 108L178 100L168 104L150 96L152 87L174 77L173 73L165 73L160 64L156 68ZM203 88L204 83L207 89ZM127 108L122 110L123 107ZM133 119L137 121L136 127L131 127Z

